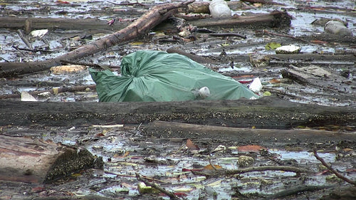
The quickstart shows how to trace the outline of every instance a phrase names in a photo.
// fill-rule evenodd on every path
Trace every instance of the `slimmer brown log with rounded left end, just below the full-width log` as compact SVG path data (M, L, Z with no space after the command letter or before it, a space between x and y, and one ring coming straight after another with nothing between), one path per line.
M236 127L192 125L179 122L155 121L145 126L147 135L154 137L216 138L238 142L329 142L355 140L355 133L339 133L325 130L271 130Z

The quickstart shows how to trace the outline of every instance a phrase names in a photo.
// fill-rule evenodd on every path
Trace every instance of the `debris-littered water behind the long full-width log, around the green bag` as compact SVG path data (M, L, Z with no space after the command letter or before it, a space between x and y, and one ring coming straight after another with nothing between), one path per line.
M136 1L135 1L136 2ZM112 1L2 1L0 16L14 16L14 17L41 17L41 18L64 18L64 19L85 19L94 18L109 21L110 19L135 19L145 13L150 7L155 4L162 4L166 1L142 1L142 4L147 6L126 6L118 5L117 2ZM170 1L169 1L170 2ZM276 1L282 5L262 5L262 4L241 4L234 7L233 14L247 15L269 13L273 10L288 11L293 19L290 28L266 28L271 33L279 33L292 37L311 37L314 41L318 41L318 36L325 35L323 19L340 19L347 23L347 27L356 35L355 21L356 16L352 9L355 8L353 1ZM132 1L134 3L134 1ZM96 30L99 31L100 30ZM115 31L115 30L112 30ZM112 32L111 31L111 32ZM216 30L222 31L222 29ZM226 30L225 30L226 31ZM265 68L253 68L251 63L247 60L238 60L234 62L234 68L231 68L229 63L234 60L234 56L250 56L259 53L266 55L273 55L275 51L266 50L267 43L276 42L282 45L293 44L300 46L300 53L317 53L317 54L333 54L340 51L352 51L355 48L355 42L342 43L339 41L328 41L328 43L312 43L300 41L300 39L293 39L283 36L276 36L270 34L261 34L262 29L249 28L231 28L229 31L241 33L247 36L246 39L241 38L209 38L206 34L197 34L197 41L186 43L158 43L160 38L170 38L172 35L164 35L164 33L154 32L150 37L145 39L138 39L132 43L126 43L120 46L115 46L102 53L97 53L95 56L83 58L85 63L99 63L100 65L119 66L122 56L132 53L133 51L142 49L153 49L165 51L172 46L182 48L187 52L196 53L199 56L214 56L219 58L222 51L225 51L228 60L221 64L208 65L210 67L218 68L219 72L229 73L263 73L276 72L274 75L263 75L263 85L271 86L273 89L285 93L284 98L303 103L316 103L320 105L355 105L355 101L350 100L336 100L330 98L328 91L320 88L315 88L311 85L300 87L300 85L292 84L274 84L268 83L273 78L283 79L280 70L285 68L285 65L267 65ZM102 31L100 33L93 33L91 39L78 39L79 36L90 35L90 30L61 30L51 29L43 38L29 37L33 47L46 47L51 53L31 53L28 51L17 51L14 46L19 48L27 48L21 41L16 30L0 28L0 44L1 44L1 62L7 61L31 61L31 60L46 60L59 56L68 52L75 47L91 43L98 38L108 35L110 31ZM313 39L313 37L316 37ZM293 65L303 60L294 60ZM318 63L318 60L315 60ZM333 63L326 62L320 65L327 65L328 70L332 73L341 73L342 71L350 71L349 76L345 82L355 83L355 61L345 60L347 63ZM239 76L239 75L237 75ZM251 77L252 80L256 77ZM248 85L248 80L244 80ZM56 85L73 87L75 85L90 85L93 81L87 71L79 72L75 75L61 74L53 75L50 71L37 73L36 75L26 75L21 78L22 83L16 81L1 81L0 95L19 93L21 90L45 90L47 88L41 85ZM283 81L284 82L284 81ZM23 85L23 86L21 86ZM300 92L303 91L303 92ZM318 91L318 93L315 93ZM355 94L354 90L348 91L347 95ZM261 93L262 94L262 93ZM293 97L296 95L296 98ZM95 91L85 95L84 93L68 93L60 94L58 96L50 96L46 98L36 97L38 100L44 101L95 101Z

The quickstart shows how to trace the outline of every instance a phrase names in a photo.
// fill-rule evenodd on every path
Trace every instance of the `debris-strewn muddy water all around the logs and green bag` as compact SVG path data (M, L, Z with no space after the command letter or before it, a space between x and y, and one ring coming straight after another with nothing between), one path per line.
M0 16L14 17L50 17L66 19L84 19L87 17L110 20L118 17L122 19L132 19L140 16L148 8L142 6L120 6L113 1L68 1L63 4L61 1L0 1ZM134 2L134 1L132 1ZM135 1L136 2L136 1ZM160 4L163 1L140 1L152 7L153 4ZM164 1L166 2L166 1ZM273 33L281 33L288 36L318 36L323 34L323 26L311 24L313 21L328 18L341 19L348 23L348 28L356 35L354 1L276 1L286 6L274 6L258 4L241 7L234 10L234 14L244 15L246 13L268 13L273 10L287 10L293 16L290 28L275 29L267 28ZM305 9L306 7L317 9ZM332 9L336 8L336 9ZM244 8L244 9L243 9ZM325 9L326 8L326 9ZM339 8L339 9L337 9ZM348 9L348 10L347 10ZM219 30L221 31L221 30ZM233 28L231 31L247 36L246 40L241 38L206 38L198 35L198 41L187 43L158 43L157 39L162 37L162 33L152 33L152 38L140 39L133 43L126 43L122 46L115 46L103 53L98 53L90 58L83 58L80 61L87 63L100 63L104 65L120 65L122 56L133 51L142 49L154 49L165 51L172 46L178 46L184 51L194 52L201 56L215 56L219 58L221 51L228 56L248 56L254 53L275 54L274 51L265 49L266 43L275 41L282 44L294 44L301 46L300 53L335 53L337 50L352 50L354 43L342 43L331 41L327 44L305 43L300 40L281 36L261 35L261 30L248 28ZM0 28L1 63L8 61L44 60L53 58L68 52L74 46L91 43L98 38L108 34L94 33L93 39L77 40L75 36L90 31L83 30L50 30L46 36L41 38L31 38L33 46L49 46L51 53L28 53L27 51L16 51L13 46L26 48L21 41L16 30ZM164 37L172 37L164 35ZM300 60L297 60L298 63ZM328 67L339 70L350 70L348 81L355 85L356 70L355 60L346 60L347 65L332 63ZM211 66L211 65L209 65ZM263 73L272 72L273 75L263 75L261 80L264 86L272 86L284 93L287 100L313 103L321 105L355 106L355 100L335 100L335 96L330 98L325 96L326 91L320 88L313 88L310 85L299 85L293 81L281 81L278 85L269 82L272 78L283 80L280 70L283 65L268 65L264 68L253 68L248 60L241 60L232 69L226 63L212 65L221 72L230 73ZM256 77L256 76L255 76ZM252 80L255 77L247 77L244 80ZM241 79L242 80L242 79ZM73 87L77 85L91 85L90 75L87 70L56 75L50 70L41 73L24 75L19 78L3 78L0 80L0 95L19 93L23 90L46 90L56 87ZM246 83L248 84L248 83ZM355 88L354 88L355 89ZM303 92L303 93L302 93ZM320 93L320 94L318 94ZM355 90L351 94L356 94ZM334 95L334 94L331 94ZM36 96L41 101L97 101L95 91L80 91L77 93L60 93L49 97ZM12 98L11 100L19 100ZM198 199L199 196L207 196L207 199L231 199L231 196L239 196L239 192L248 199L259 199L268 194L276 194L278 191L298 186L307 185L346 185L345 182L333 177L329 172L323 172L323 167L313 157L310 152L315 145L320 149L320 157L332 164L335 169L351 179L356 179L355 171L356 156L354 143L340 144L330 142L328 144L259 144L268 148L268 154L239 152L229 147L241 146L239 142L229 142L214 140L211 138L194 138L192 141L199 146L199 151L193 151L185 147L185 139L159 139L145 136L145 132L137 127L127 128L98 128L98 127L7 127L2 128L1 133L16 135L32 135L43 139L51 139L55 142L62 142L69 145L80 145L87 148L93 154L103 157L105 161L104 170L87 170L73 176L67 177L49 185L20 184L0 186L0 198L23 199L33 196L56 196L56 195L88 195L98 194L100 196L120 197L122 199L152 199L159 196L139 195L137 191L137 179L135 172L153 177L161 186L169 191L181 192L187 199ZM98 135L103 136L98 136ZM226 147L226 151L209 154L219 144ZM251 143L253 144L253 143ZM292 147L290 147L292 146ZM127 153L127 154L126 154ZM183 172L183 169L199 169L206 167L209 161L218 164L225 169L239 169L236 162L241 155L253 157L253 166L264 165L291 165L308 169L310 173L297 176L293 172L266 171L249 172L240 176L222 176L206 179L203 176L194 175L191 172ZM350 172L348 172L350 171ZM33 192L36 186L43 186L43 191ZM286 197L286 199L318 199L330 190L317 191L314 193L303 193ZM160 196L169 199L167 196Z

